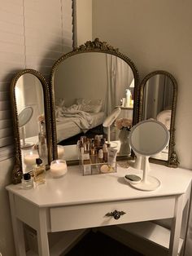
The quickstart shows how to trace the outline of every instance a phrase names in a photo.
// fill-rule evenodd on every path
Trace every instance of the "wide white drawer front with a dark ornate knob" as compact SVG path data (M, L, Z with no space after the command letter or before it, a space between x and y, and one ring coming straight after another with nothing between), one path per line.
M50 208L50 228L51 232L59 232L172 218L174 216L174 204L174 197L166 196L55 207Z

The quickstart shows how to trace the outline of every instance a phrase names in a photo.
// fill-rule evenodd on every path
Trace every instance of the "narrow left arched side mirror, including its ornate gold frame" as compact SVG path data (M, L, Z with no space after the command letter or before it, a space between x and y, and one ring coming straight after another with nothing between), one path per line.
M33 69L17 73L11 82L11 107L15 140L12 182L33 170L40 157L48 167L51 160L50 95L45 77Z

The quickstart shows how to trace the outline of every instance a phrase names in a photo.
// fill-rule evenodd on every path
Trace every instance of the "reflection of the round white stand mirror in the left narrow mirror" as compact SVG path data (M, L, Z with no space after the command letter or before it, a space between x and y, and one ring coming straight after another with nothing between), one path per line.
M20 133L21 133L21 142L20 147L21 148L29 148L33 146L33 142L27 142L25 141L25 133L24 133L24 126L28 123L28 121L31 120L33 116L33 108L31 106L28 106L21 110L21 112L18 115L19 120L19 127L20 127Z

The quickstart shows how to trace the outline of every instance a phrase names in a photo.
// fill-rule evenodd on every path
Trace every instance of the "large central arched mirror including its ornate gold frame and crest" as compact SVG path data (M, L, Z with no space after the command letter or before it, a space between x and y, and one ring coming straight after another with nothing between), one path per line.
M54 159L61 145L64 159L69 164L76 163L77 140L83 135L107 135L108 127L103 128L103 121L116 107L121 108L118 118L128 117L132 125L138 121L137 68L128 56L107 42L96 38L61 56L52 68L50 80ZM118 133L120 130L113 123L111 142L119 141ZM73 156L68 156L69 152ZM128 157L126 152L125 155Z

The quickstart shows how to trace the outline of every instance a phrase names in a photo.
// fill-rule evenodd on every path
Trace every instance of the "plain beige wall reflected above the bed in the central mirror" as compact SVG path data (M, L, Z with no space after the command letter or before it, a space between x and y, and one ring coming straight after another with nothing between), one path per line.
M55 98L70 106L77 98L105 99L107 90L105 55L79 54L59 65L55 80Z

